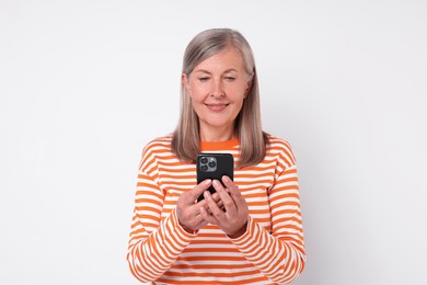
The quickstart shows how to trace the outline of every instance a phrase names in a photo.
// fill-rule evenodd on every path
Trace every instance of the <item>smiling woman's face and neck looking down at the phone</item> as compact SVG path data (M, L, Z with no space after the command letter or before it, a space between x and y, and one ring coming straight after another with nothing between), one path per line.
M198 64L183 83L192 98L203 140L230 139L251 82L241 54L229 47Z

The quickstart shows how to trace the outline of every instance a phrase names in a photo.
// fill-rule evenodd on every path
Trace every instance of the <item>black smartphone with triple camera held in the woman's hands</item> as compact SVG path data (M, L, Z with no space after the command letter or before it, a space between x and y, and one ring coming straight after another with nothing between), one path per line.
M203 152L197 156L197 184L206 179L219 180L222 183L222 176L227 175L234 179L234 159L231 153ZM223 183L222 183L223 185ZM209 186L210 194L217 192L212 185ZM197 202L204 200L201 194Z

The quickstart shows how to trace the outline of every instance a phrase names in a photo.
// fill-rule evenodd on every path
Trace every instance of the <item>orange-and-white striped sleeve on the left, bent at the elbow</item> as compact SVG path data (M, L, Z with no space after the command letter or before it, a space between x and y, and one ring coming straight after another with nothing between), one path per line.
M161 217L164 194L157 181L155 158L142 156L138 171L127 261L141 282L161 276L193 239L178 224L175 209Z

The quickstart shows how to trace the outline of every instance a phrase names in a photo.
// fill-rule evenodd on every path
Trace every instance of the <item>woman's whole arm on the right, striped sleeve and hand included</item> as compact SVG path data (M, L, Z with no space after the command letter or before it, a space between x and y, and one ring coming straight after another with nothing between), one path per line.
M204 218L218 225L240 252L273 282L289 283L303 270L305 253L301 226L298 175L293 155L288 145L276 144L274 184L268 191L272 232L258 225L247 212L247 205L238 186L228 178L214 186L226 206L222 212L208 192L212 215L200 208ZM230 195L229 195L229 194Z

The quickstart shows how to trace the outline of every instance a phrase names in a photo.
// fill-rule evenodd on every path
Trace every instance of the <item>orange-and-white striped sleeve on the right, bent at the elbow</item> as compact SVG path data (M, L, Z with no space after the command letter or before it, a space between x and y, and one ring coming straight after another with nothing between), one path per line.
M272 232L250 217L246 232L232 240L252 264L277 283L290 283L305 264L297 167L290 148L287 153L279 158L268 193Z

